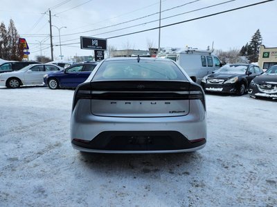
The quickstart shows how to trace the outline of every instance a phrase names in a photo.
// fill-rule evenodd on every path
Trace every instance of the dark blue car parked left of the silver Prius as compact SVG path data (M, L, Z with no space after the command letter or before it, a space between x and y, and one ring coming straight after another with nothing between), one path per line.
M69 68L59 72L51 72L44 75L44 86L50 89L76 88L83 83L96 67L98 62L75 63Z

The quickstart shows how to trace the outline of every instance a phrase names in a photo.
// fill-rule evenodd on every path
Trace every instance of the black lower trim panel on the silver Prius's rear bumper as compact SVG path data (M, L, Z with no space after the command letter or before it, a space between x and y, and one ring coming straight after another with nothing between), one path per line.
M183 150L206 144L206 139L191 143L176 131L108 131L88 143L73 139L72 144L94 150Z

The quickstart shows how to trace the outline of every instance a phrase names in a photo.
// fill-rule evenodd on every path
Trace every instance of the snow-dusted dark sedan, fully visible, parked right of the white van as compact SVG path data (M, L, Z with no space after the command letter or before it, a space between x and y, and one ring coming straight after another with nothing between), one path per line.
M227 64L204 77L201 85L208 92L244 95L251 80L262 72L262 69L253 64Z

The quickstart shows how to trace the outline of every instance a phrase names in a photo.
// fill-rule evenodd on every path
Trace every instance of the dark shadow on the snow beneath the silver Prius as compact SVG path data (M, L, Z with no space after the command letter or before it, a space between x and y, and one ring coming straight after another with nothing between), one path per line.
M189 175L204 164L200 152L165 154L102 154L80 152L79 161L91 170L122 172L130 175L153 174L167 171L170 174Z

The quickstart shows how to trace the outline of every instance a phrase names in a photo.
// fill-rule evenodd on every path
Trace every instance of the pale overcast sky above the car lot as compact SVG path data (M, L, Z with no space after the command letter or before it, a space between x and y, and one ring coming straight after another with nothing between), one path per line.
M161 26L258 2L262 0L162 0ZM222 4L215 6L218 3ZM118 50L147 50L149 45L156 48L159 45L159 30L110 39L159 27L159 0L1 0L0 21L6 28L10 19L15 21L19 35L28 42L30 59L40 55L39 42L42 55L51 57L49 9L52 25L61 28L62 44L67 44L62 46L65 60L75 55L93 55L93 50L80 49L80 36L108 38L108 46ZM277 47L276 14L277 2L271 1L161 28L161 47L206 49L213 45L215 50L240 49L258 29L265 46ZM60 59L57 28L52 28L55 60Z

